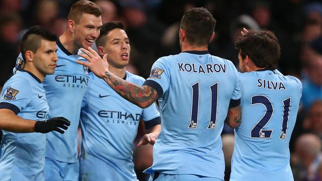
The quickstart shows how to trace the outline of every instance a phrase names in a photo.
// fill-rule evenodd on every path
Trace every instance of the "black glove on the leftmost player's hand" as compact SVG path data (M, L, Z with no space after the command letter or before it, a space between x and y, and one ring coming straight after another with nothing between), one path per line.
M35 132L37 133L49 133L51 131L56 131L58 133L64 134L63 130L58 128L62 128L67 130L67 126L70 125L70 121L68 121L64 117L54 117L52 119L48 119L46 121L37 121L35 124Z

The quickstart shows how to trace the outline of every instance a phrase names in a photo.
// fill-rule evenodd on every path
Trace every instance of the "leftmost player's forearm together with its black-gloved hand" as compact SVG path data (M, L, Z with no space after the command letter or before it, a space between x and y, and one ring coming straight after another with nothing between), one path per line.
M5 130L13 133L49 133L51 131L57 131L64 133L64 131L58 129L62 128L67 130L67 126L70 122L65 118L49 119L46 121L33 121L22 119L17 116L10 109L0 109L0 130Z

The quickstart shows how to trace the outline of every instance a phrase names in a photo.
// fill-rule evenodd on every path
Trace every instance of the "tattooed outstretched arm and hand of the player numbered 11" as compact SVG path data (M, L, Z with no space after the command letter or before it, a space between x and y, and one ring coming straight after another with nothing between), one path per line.
M105 54L102 59L91 47L88 47L88 50L81 48L81 51L85 54L79 54L79 56L87 59L88 62L76 62L89 67L96 76L105 80L113 90L126 100L141 108L147 108L158 99L158 92L150 86L138 86L136 84L126 82L109 72L107 54Z

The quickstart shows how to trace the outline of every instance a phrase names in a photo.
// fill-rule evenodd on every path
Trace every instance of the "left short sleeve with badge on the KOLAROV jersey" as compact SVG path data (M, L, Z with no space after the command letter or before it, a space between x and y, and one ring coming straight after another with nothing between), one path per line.
M168 90L170 84L171 65L165 57L159 58L151 68L151 75L143 85L157 90L159 97Z

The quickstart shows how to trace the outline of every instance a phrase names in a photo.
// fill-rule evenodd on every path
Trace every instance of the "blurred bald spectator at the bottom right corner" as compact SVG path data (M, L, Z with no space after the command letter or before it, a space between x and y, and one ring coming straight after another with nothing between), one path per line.
M318 169L322 166L321 139L314 134L304 134L295 143L299 163L293 169L295 181L321 181Z

